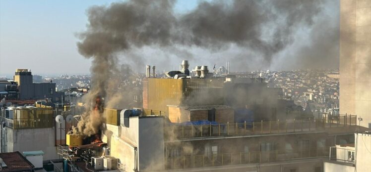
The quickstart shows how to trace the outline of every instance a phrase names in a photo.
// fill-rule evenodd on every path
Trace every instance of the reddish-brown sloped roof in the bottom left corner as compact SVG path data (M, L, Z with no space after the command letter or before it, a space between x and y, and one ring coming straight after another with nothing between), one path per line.
M0 172L31 172L34 170L34 166L18 151L0 153L0 158L3 161Z

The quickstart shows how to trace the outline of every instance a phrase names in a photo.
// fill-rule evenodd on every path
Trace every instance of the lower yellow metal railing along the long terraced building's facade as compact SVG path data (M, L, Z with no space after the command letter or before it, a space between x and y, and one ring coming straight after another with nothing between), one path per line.
M168 157L165 160L165 169L172 170L235 164L270 163L302 158L321 158L327 155L328 152L325 149L317 148L220 154L214 152L208 155Z

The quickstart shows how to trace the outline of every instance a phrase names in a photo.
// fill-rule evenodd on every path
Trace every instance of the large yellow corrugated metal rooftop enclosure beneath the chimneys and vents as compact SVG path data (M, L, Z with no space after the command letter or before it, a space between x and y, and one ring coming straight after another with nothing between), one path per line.
M143 106L146 109L167 112L167 105L222 105L223 79L159 79L148 78L148 92L143 86Z

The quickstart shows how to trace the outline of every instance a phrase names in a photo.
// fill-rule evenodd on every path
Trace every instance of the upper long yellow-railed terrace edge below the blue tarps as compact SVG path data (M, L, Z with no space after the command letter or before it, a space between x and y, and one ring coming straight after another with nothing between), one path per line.
M286 120L253 123L228 123L217 125L191 125L165 127L165 140L190 139L212 136L247 136L297 132L325 131L330 128L356 126L356 116L347 115L341 120L323 117L321 120Z

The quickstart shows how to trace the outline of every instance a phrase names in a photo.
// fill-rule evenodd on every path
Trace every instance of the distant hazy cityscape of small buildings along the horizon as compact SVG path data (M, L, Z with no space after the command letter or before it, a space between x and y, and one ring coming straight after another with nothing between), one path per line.
M268 87L282 88L282 98L294 100L304 109L309 105L312 112L330 114L339 113L339 70L292 70L292 71L254 71L239 74L261 75ZM157 74L162 76L162 74ZM142 85L144 74L132 74L123 83ZM34 83L56 83L56 90L72 93L77 88L89 88L89 75L61 75L58 77L42 77L33 75Z

